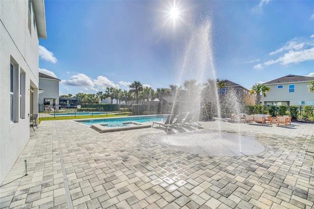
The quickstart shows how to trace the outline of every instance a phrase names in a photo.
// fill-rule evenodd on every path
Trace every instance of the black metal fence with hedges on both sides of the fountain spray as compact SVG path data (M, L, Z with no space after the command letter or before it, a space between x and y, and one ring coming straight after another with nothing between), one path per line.
M168 114L171 112L172 105L164 104L38 104L39 118L87 118L102 117L113 115L147 115L147 114ZM290 106L262 106L262 105L244 105L241 112L251 114L269 114L272 116L289 115L292 119L303 118L312 120L314 117L314 106L309 105L290 105ZM222 117L228 117L233 112L228 109L221 109Z

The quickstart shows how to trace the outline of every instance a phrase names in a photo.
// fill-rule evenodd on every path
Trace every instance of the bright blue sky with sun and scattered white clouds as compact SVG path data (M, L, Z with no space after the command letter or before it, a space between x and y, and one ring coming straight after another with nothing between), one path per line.
M311 0L46 0L39 72L59 95L314 77Z

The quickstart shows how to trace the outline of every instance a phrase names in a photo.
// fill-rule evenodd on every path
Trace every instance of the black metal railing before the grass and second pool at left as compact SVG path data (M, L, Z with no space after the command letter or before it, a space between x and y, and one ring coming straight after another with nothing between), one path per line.
M131 105L120 104L38 104L41 119L69 119L131 114Z

